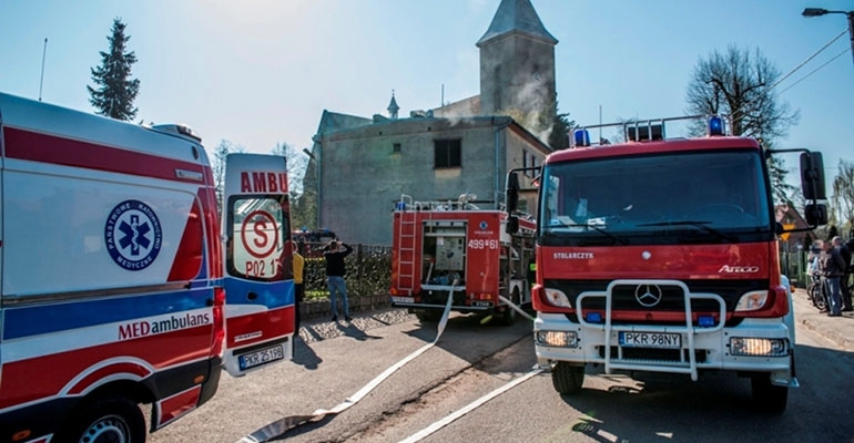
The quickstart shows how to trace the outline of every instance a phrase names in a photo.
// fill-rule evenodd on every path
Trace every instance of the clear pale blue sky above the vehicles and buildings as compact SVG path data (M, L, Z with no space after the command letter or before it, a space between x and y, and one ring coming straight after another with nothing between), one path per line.
M559 40L559 112L579 124L685 115L698 61L735 44L759 49L789 75L774 91L800 120L775 147L822 151L828 182L840 159L854 159L854 43L846 17L801 14L806 7L852 11L854 0L531 3ZM209 152L222 141L246 152L270 153L279 143L299 152L311 147L324 110L387 115L394 90L400 116L408 116L477 95L475 43L498 4L0 0L0 91L93 112L90 70L120 18L138 58L136 121L187 124ZM794 173L796 157L785 161Z

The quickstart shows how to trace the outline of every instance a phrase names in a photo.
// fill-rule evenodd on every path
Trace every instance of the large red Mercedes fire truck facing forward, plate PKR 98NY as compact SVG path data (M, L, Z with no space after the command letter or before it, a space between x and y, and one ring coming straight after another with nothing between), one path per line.
M797 387L794 321L766 159L800 152L814 228L827 218L821 154L725 136L719 117L709 136L668 140L667 120L621 124L621 144L590 146L579 131L539 169L538 363L562 394L581 389L587 363L692 380L734 371L751 379L759 409L781 413ZM509 210L518 174L508 174Z

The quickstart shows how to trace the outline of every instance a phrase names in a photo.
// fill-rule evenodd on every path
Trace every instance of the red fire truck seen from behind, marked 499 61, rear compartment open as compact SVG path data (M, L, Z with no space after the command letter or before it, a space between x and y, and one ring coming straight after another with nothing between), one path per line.
M500 297L517 306L530 302L535 223L517 216L518 230L511 236L507 213L480 209L472 198L401 197L394 213L393 306L436 321L453 293L451 310L494 313L511 324L516 311Z

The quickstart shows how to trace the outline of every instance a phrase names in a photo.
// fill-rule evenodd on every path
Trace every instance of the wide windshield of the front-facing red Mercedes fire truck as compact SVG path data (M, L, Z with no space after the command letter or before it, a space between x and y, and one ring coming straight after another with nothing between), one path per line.
M539 219L548 245L767 241L772 208L756 150L547 164Z

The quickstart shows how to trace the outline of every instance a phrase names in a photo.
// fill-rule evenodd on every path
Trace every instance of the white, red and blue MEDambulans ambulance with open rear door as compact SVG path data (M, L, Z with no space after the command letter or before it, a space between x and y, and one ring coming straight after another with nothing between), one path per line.
M144 442L141 405L153 432L291 358L285 159L226 171L221 223L185 126L0 93L0 443Z

